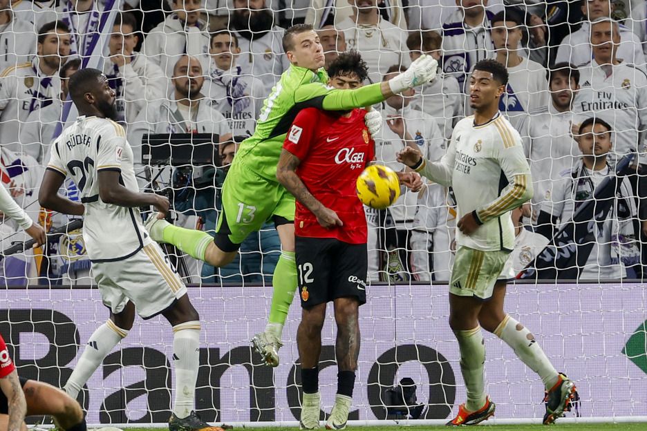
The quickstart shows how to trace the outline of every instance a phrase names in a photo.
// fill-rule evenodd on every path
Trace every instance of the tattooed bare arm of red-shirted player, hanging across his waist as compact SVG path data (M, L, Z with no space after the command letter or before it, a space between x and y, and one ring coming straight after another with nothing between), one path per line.
M339 220L339 216L332 209L324 207L315 196L310 193L306 184L303 184L299 175L297 175L297 167L301 160L296 155L283 149L279 164L276 166L276 179L287 189L294 198L297 198L301 204L305 205L317 217L317 221L321 226L330 229L335 226L342 226L343 223Z

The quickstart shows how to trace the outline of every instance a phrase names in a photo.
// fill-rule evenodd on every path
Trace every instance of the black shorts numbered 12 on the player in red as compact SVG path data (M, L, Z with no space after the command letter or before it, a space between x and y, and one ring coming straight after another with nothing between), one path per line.
M366 303L366 244L297 236L295 245L301 307L344 296L355 296L359 305Z

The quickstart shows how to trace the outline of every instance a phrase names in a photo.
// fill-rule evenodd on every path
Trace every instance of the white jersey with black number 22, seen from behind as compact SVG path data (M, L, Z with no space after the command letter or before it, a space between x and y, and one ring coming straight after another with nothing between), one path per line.
M85 205L83 240L93 262L129 258L152 240L137 208L106 204L99 196L100 171L118 171L126 189L139 191L133 151L124 128L99 117L82 116L54 141L47 169L70 176Z

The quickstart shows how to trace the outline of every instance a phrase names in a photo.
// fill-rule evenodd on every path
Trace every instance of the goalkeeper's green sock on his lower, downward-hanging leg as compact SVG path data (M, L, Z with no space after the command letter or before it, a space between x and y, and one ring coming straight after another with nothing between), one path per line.
M281 257L274 269L272 286L274 291L270 319L265 331L271 332L278 340L281 340L283 325L285 325L285 319L288 318L294 291L297 290L297 260L294 257L294 251L281 251Z

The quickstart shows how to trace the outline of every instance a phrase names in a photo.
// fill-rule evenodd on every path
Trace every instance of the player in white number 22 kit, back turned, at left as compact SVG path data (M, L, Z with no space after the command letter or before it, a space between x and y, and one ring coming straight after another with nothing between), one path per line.
M65 390L77 396L106 355L128 335L135 310L144 319L162 314L174 337L175 401L169 430L209 428L193 411L198 312L187 287L144 229L139 211L153 205L165 214L169 200L140 193L133 151L124 128L113 121L115 92L106 76L100 70L81 69L70 78L69 90L80 116L53 143L38 199L42 207L84 216L83 239L110 318L90 337ZM57 194L68 175L79 189L80 203Z

